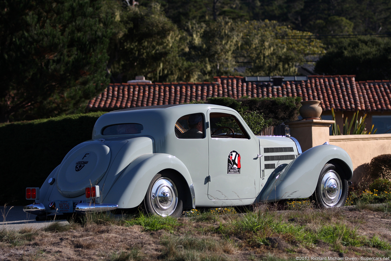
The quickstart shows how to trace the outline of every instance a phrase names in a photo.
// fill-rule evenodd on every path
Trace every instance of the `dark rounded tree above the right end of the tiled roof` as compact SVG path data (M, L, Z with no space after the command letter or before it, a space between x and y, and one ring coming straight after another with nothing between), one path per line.
M316 63L318 74L355 74L356 80L391 79L391 40L360 37L334 43Z

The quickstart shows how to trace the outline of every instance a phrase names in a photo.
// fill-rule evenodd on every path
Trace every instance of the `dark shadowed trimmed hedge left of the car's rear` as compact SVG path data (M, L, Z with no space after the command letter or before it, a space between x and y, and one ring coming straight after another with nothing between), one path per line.
M41 187L77 144L91 139L104 112L59 116L0 125L2 182L0 204L25 205L26 187Z

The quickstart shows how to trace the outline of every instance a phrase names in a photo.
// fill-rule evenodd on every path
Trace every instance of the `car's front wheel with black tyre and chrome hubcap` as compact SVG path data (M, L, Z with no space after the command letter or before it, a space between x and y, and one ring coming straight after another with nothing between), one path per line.
M319 176L314 192L316 203L321 207L343 207L348 196L348 181L341 178L333 164L326 164Z

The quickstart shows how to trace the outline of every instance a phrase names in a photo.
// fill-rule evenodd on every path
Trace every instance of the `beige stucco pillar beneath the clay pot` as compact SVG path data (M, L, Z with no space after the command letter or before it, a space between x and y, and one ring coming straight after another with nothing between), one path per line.
M306 151L314 146L330 141L329 128L334 121L301 120L285 122L291 129L291 136L300 143L301 150Z

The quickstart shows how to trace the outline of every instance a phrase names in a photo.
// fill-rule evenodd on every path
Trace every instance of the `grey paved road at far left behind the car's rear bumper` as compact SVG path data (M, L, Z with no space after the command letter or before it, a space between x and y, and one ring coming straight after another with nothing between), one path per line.
M0 231L2 229L22 229L23 227L42 228L47 226L51 221L36 221L35 215L27 214L23 211L23 206L6 206L0 208ZM59 220L60 222L69 224L66 220Z

